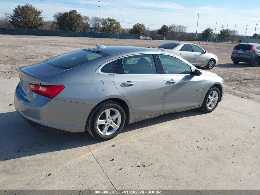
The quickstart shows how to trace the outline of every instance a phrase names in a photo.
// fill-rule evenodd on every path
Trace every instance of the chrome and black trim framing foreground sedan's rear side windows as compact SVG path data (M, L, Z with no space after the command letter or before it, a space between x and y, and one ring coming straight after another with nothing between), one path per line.
M105 66L106 64L108 64L110 62L113 62L114 60L118 60L118 59L122 59L122 58L126 58L126 57L131 57L131 56L135 56L135 55L153 55L157 74L122 74L122 73L105 73L105 72L101 72L102 67ZM158 59L158 57L155 59L155 57L156 57L156 53L154 53L154 52L153 53L138 53L138 54L131 54L131 55L121 56L119 58L115 58L115 59L109 60L109 61L107 61L105 63L102 63L96 69L96 73L98 73L98 74L106 74L106 75L161 75L162 71L161 71L161 68L159 67L160 66L159 59Z

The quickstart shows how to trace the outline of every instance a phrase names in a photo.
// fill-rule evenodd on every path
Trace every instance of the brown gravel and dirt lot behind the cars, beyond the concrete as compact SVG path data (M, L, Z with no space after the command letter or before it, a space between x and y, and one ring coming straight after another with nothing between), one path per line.
M65 52L94 47L96 44L155 47L164 42L167 41L0 35L0 76L1 79L18 78L19 66L33 64ZM233 64L230 55L235 44L206 45L206 42L202 42L201 46L218 56L218 65L211 71L226 81L226 92L260 102L260 67L252 67L247 63Z

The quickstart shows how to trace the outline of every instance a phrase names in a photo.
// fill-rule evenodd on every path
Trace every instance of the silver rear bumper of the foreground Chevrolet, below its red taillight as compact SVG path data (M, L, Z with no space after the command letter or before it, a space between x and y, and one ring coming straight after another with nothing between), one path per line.
M94 105L55 100L35 94L32 101L26 100L15 89L14 107L31 124L52 133L84 132L87 117ZM60 131L62 130L62 131Z

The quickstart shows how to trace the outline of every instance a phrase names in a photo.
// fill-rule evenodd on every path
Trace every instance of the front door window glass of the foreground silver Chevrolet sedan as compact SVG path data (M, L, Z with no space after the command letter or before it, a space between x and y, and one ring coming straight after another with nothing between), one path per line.
M190 75L191 68L188 64L183 62L182 60L175 58L169 55L160 55L160 60L162 62L162 67L164 70L164 74L166 75Z

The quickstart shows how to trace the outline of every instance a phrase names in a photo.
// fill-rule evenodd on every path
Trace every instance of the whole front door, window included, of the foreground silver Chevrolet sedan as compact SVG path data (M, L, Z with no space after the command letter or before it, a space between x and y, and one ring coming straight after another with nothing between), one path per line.
M204 88L203 77L191 75L191 67L178 58L158 56L166 84L164 112L198 106Z

